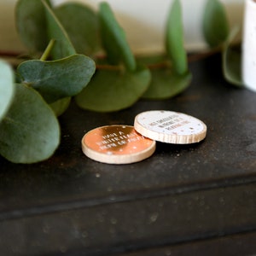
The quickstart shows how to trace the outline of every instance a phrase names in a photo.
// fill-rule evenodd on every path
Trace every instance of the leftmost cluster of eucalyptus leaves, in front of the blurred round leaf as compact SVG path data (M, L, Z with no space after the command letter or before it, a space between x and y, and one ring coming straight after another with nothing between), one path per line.
M60 143L56 115L90 82L96 66L89 57L76 54L49 1L18 1L16 22L20 38L30 50L46 49L41 60L24 61L17 67L19 84L9 67L0 62L1 100L4 97L0 154L15 163L33 163L54 154ZM39 44L44 38L44 44ZM48 58L51 60L46 61Z

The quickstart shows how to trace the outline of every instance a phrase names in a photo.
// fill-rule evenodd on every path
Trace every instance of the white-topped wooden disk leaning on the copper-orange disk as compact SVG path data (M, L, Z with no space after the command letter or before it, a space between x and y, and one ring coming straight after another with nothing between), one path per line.
M144 137L162 143L199 143L207 136L207 125L200 119L163 110L139 113L134 128Z

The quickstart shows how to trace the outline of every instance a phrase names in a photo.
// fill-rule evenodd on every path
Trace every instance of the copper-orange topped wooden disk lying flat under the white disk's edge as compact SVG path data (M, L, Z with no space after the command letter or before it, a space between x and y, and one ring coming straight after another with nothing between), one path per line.
M90 159L108 164L130 164L144 160L155 150L155 142L133 126L109 125L87 132L82 150Z

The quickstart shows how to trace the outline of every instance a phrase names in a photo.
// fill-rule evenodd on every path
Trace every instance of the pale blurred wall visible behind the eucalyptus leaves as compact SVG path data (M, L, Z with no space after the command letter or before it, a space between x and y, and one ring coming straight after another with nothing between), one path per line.
M15 31L15 3L0 0L0 51L20 51L24 47ZM54 0L86 3L97 8L102 0ZM181 0L183 5L184 41L187 49L205 47L201 35L201 17L207 0ZM244 0L222 0L230 25L242 24ZM125 29L134 52L160 51L164 40L166 14L172 0L108 0L119 23Z

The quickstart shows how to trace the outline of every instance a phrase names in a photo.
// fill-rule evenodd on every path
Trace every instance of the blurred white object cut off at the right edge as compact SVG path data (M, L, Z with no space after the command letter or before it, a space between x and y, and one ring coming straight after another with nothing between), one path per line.
M256 1L245 1L242 40L242 78L245 86L256 91Z

